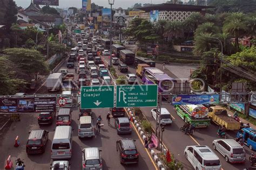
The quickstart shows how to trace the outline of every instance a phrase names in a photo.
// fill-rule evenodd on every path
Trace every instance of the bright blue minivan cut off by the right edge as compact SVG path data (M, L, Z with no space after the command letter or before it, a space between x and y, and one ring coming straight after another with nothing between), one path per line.
M243 128L237 132L237 138L242 135L244 144L247 145L250 150L256 150L256 130L252 128Z

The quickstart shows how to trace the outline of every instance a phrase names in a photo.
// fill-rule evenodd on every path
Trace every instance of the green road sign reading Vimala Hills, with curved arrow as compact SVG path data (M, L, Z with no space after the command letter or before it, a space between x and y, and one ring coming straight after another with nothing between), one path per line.
M120 85L116 107L156 107L157 94L157 85Z

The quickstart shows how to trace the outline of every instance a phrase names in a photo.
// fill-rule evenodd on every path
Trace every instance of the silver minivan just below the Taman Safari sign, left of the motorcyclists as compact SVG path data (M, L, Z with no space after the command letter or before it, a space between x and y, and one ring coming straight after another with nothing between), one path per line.
M92 117L91 116L81 116L78 119L78 137L93 137L95 136L93 124L92 124Z

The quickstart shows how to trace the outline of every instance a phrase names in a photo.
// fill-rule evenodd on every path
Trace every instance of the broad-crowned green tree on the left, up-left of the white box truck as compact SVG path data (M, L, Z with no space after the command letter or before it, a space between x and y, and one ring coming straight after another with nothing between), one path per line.
M23 73L33 77L35 73L48 73L48 65L43 55L35 49L25 48L8 48L4 49L4 54L10 56L10 60L14 62Z

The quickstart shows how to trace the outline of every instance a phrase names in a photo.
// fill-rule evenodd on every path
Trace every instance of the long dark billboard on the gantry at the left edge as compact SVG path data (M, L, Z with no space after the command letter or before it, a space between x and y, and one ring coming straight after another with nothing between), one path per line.
M56 111L56 97L0 98L0 112Z

